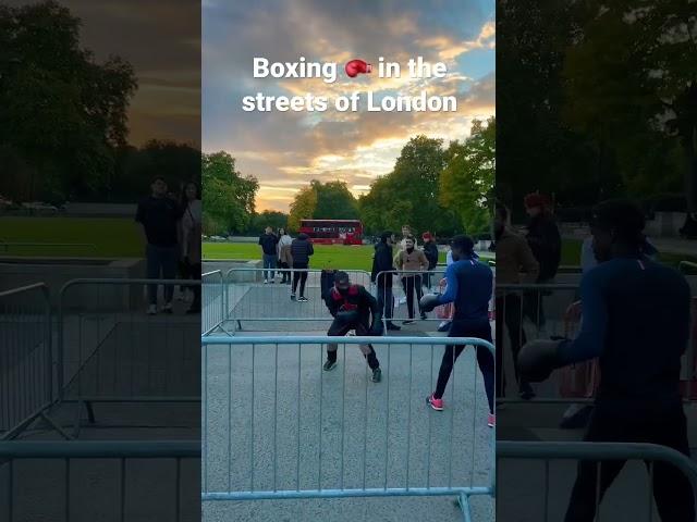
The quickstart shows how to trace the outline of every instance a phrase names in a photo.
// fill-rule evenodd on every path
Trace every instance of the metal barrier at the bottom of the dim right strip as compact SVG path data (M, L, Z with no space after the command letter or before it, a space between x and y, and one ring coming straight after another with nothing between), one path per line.
M644 499L646 499L647 502L647 518L644 520L660 520L658 517L656 519L653 518L653 470L657 462L671 464L680 470L680 472L682 472L682 474L689 481L693 489L693 496L695 500L697 500L697 497L695 497L695 495L697 494L697 463L695 463L685 455L665 446L636 443L529 443L498 440L496 452L497 467L499 470L498 480L500 482L506 478L506 472L504 471L505 468L501 465L502 460L511 459L543 461L543 487L539 487L538 483L536 482L537 473L531 473L529 470L525 473L525 480L528 481L533 486L531 490L540 492L543 496L543 504L539 509L540 513L535 513L534 520L547 522L549 520L561 520L563 518L563 512L553 512L555 510L550 506L550 501L552 499L559 499L562 496L562 492L559 490L559 487L554 494L550 494L550 485L554 484L559 486L562 478L561 476L558 476L557 478L550 478L550 475L552 474L550 471L550 463L552 461L559 460L597 462L598 477L601 476L602 465L607 465L609 461L644 461L648 468L648 494L646 495L646 497L643 497L639 492L636 492L636 489L632 489L632 498L627 498L625 502L622 502L622 520L634 520L637 522L641 522L641 519L629 515L627 513L627 510L629 507L634 509L640 509L638 508L638 502L641 502ZM575 470L568 468L558 471L563 471L566 475L573 473L575 476ZM514 483L514 481L511 482ZM499 492L499 498L501 498L502 487L499 486L497 489ZM519 490L519 484L515 487L515 489ZM571 488L568 489L568 493L571 493ZM529 495L529 493L521 493L519 495ZM563 495L563 498L568 497L567 495ZM524 515L531 514L525 511L521 511L518 500L521 500L521 498L515 501L517 506L516 512ZM506 498L505 500L502 500L502 504L509 504L510 501L512 501L512 499L508 498L506 495ZM697 501L695 501L695 505L697 506ZM601 512L599 510L600 506L600 489L596 488L595 512L597 513L597 515L596 518L594 518L594 520L606 520L604 517L601 519ZM565 508L566 506L564 505L562 509ZM559 508L557 510L559 510ZM608 518L607 520L620 519Z

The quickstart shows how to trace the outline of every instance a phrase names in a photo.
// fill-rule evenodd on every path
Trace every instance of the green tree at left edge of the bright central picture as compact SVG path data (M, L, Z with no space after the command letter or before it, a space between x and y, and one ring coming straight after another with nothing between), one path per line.
M201 154L204 233L240 233L249 226L259 183L235 170L227 152Z

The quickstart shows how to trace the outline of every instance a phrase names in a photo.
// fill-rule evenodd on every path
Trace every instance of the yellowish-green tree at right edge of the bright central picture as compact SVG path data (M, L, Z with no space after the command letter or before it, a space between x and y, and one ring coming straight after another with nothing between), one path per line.
M450 145L450 160L440 176L440 201L462 220L468 234L486 232L493 219L496 120L475 120L469 139Z

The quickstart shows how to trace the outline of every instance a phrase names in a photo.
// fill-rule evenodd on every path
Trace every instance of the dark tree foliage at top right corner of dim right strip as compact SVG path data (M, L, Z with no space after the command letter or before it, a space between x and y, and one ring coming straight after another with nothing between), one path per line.
M646 187L647 176L665 186L681 173L688 212L697 216L694 3L582 3L564 66L568 121L612 147L635 189Z

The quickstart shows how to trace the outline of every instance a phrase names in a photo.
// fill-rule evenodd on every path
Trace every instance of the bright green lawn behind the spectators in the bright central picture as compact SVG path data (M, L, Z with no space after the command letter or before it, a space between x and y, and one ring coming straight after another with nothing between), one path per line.
M253 243L204 243L204 259L261 259L261 247ZM310 268L365 270L372 269L372 245L315 245ZM441 252L440 261L445 262Z

